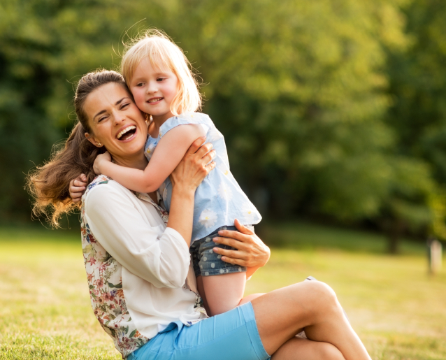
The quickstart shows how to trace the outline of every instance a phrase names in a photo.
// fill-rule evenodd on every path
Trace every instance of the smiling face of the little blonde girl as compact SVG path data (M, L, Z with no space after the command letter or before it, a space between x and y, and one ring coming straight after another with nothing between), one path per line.
M157 69L145 57L138 65L129 83L136 106L153 120L164 122L172 117L171 103L178 94L178 78L169 69Z

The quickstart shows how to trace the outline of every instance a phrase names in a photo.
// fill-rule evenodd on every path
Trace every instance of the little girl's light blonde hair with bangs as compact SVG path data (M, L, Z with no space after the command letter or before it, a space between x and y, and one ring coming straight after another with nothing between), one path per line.
M170 69L178 77L178 94L171 103L173 115L201 109L199 82L184 52L163 32L149 29L128 41L124 48L121 73L129 85L136 67L146 57L154 69Z

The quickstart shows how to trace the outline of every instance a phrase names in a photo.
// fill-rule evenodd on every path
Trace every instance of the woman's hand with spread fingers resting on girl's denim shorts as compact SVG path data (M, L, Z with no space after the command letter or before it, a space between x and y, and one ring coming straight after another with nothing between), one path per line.
M235 226L238 231L221 230L218 232L220 237L213 238L213 241L218 244L235 247L237 250L225 250L220 249L220 247L214 247L214 252L221 254L222 260L229 264L255 268L255 270L264 266L271 254L269 247L260 240L254 231L247 229L237 219Z

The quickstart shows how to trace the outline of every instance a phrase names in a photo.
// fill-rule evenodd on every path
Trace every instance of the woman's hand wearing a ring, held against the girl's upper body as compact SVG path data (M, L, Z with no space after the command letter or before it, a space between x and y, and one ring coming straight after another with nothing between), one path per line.
M204 137L196 139L180 164L171 173L170 179L173 187L181 187L181 191L184 189L186 192L189 190L195 192L206 175L215 168L213 161L215 150L211 150L213 146L211 143L203 145L205 140Z

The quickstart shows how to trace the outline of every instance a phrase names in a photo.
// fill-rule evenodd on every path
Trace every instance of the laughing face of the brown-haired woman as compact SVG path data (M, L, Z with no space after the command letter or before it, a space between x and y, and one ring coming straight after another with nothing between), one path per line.
M143 154L147 138L145 117L126 89L109 82L87 96L84 111L92 134L85 134L93 145L101 143L115 159Z

